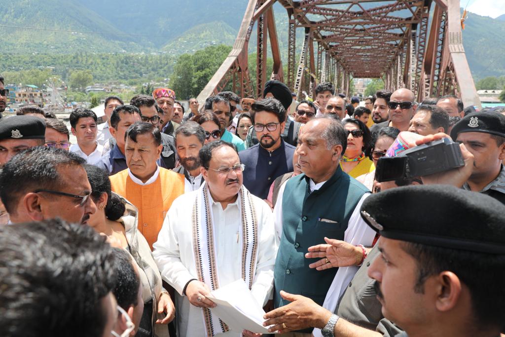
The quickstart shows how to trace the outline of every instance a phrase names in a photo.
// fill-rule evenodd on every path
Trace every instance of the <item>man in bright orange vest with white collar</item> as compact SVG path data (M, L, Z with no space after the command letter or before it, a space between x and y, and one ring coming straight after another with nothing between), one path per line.
M163 145L153 124L132 124L125 139L128 168L110 177L111 186L138 208L138 229L152 249L168 209L184 193L184 176L157 165Z

